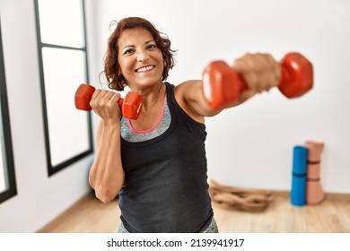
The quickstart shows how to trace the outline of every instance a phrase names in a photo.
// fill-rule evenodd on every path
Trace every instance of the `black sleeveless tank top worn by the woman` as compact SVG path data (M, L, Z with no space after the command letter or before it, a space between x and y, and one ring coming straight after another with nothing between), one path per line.
M125 182L120 219L129 232L199 232L213 217L206 169L206 125L179 107L166 82L168 129L153 139L121 138Z

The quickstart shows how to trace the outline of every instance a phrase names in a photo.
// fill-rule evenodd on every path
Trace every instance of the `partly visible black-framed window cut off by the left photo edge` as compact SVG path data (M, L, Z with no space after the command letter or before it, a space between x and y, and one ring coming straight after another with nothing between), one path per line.
M3 42L0 29L0 203L17 195L14 179L13 147L4 75Z

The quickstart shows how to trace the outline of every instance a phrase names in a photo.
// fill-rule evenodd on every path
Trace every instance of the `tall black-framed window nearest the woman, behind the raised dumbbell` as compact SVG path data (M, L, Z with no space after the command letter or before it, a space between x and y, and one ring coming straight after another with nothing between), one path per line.
M74 92L88 81L83 0L35 0L48 175L92 153L90 113Z

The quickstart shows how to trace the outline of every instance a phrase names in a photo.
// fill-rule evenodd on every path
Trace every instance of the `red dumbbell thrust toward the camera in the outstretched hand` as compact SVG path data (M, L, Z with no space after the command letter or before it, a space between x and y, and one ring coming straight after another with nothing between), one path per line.
M282 74L278 89L287 98L296 98L310 91L313 85L311 62L299 53L288 53L281 61ZM247 89L241 76L223 61L210 63L203 73L203 91L209 105L222 108L237 100Z

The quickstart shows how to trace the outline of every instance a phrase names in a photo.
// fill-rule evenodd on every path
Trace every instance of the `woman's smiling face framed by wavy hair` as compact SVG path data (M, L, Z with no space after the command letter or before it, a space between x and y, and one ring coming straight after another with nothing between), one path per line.
M143 89L162 81L162 51L148 30L133 28L123 31L118 39L118 63L131 89Z

